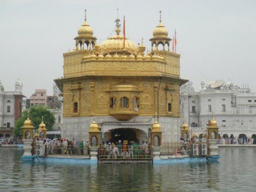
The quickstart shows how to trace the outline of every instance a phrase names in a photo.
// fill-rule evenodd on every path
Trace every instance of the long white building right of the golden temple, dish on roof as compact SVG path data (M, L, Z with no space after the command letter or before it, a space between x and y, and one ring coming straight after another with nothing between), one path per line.
M201 82L199 92L195 92L191 83L181 88L181 118L187 121L192 132L206 132L211 115L217 120L219 134L233 134L247 138L256 134L256 93L249 88L234 86L223 80Z

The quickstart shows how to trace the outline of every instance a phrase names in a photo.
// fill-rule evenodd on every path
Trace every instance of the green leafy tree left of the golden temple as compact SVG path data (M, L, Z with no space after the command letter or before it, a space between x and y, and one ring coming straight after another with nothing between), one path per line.
M28 110L23 112L23 116L16 121L15 128L13 130L14 136L23 135L23 130L21 127L24 126L24 121L27 119ZM31 107L29 109L29 119L32 120L33 126L38 129L40 123L42 122L42 116L44 117L44 123L48 131L52 130L52 126L55 123L55 117L52 112L47 110L44 106L39 105L38 107Z

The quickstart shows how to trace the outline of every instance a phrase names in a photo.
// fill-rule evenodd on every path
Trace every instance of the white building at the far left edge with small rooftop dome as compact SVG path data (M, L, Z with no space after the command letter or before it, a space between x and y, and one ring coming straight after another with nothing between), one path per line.
M0 81L0 137L12 136L15 121L22 116L23 84L17 80L15 91L4 91Z

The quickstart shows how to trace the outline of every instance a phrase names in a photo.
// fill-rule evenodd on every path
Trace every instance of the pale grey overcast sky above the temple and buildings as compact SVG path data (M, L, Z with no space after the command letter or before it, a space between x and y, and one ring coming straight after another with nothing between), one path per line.
M0 0L0 80L14 91L17 79L28 97L36 89L53 95L53 79L63 76L63 53L84 23L100 44L115 35L117 9L125 15L126 37L140 43L159 23L181 54L181 78L193 82L223 79L256 92L255 0ZM121 22L122 24L122 22ZM121 26L122 27L122 26Z

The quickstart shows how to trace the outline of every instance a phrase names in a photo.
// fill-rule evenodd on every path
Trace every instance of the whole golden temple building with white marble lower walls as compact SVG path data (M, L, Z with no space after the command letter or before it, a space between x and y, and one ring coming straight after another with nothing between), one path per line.
M125 37L120 23L116 19L115 35L98 43L85 12L75 48L63 53L64 76L54 80L63 93L61 136L93 143L89 135L97 130L97 144L152 143L156 133L158 145L177 142L180 86L187 82L180 78L180 54L170 51L172 39L161 15L148 53L143 42Z

